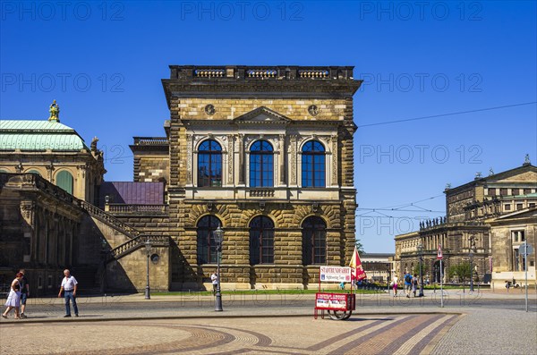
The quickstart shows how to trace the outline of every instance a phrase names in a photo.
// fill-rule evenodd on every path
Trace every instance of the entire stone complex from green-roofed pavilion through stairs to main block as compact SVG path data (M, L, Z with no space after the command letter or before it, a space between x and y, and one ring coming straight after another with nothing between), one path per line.
M199 290L216 267L218 226L224 288L307 288L320 265L348 264L353 67L171 66L162 83L166 136L134 138L134 182L102 182L97 139L88 149L55 104L51 122L2 123L0 244L31 251L0 268L77 266L88 283L126 291L145 287L150 258L152 289ZM27 188L32 206L60 196L65 208L21 229ZM72 224L56 230L68 212Z

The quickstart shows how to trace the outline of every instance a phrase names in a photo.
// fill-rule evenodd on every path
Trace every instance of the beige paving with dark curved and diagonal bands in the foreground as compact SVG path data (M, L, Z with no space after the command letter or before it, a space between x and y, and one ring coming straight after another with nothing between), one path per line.
M419 354L459 318L452 314L353 317L201 318L12 323L2 354ZM22 340L21 340L22 339Z

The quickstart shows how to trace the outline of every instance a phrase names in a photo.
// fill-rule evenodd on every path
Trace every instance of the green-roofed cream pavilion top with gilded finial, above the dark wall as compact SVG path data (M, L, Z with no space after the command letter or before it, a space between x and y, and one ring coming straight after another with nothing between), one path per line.
M93 203L106 173L98 139L88 148L76 131L60 123L55 101L49 112L48 120L0 121L0 173L37 173Z

